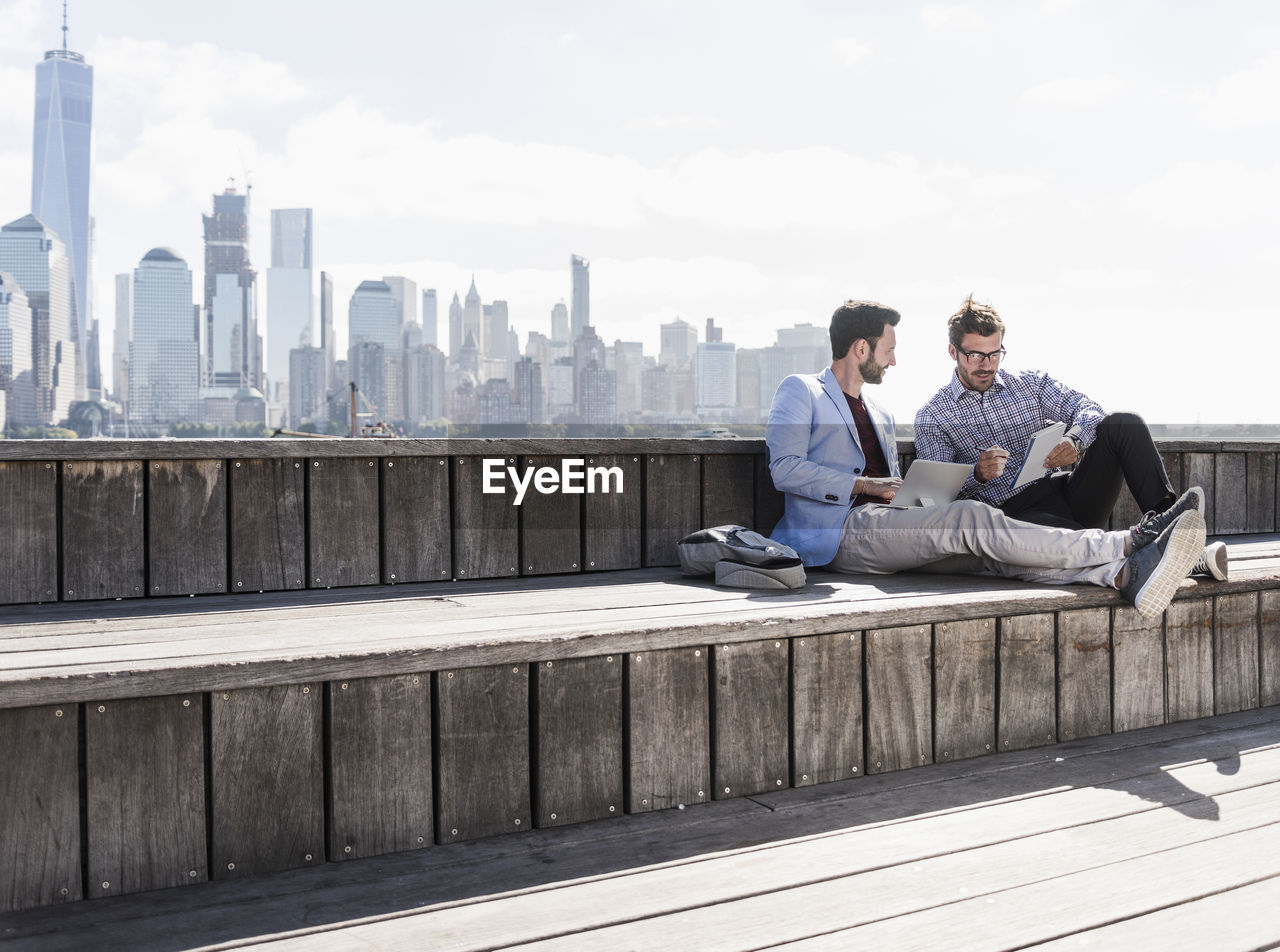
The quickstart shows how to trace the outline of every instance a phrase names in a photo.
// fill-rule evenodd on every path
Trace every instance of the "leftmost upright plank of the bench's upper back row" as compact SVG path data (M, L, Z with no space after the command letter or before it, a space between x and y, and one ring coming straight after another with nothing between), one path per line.
M58 599L58 468L0 463L0 604Z

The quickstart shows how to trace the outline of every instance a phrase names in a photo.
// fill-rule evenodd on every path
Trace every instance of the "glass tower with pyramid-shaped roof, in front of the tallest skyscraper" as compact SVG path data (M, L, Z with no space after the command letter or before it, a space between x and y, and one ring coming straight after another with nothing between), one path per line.
M0 228L0 271L8 271L31 306L33 418L59 424L76 393L76 344L70 322L70 265L67 248L35 215Z

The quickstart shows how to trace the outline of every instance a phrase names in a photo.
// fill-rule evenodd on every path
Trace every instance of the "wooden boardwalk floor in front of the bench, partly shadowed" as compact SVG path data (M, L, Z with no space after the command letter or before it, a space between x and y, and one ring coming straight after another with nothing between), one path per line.
M0 952L1277 946L1275 706L0 915Z

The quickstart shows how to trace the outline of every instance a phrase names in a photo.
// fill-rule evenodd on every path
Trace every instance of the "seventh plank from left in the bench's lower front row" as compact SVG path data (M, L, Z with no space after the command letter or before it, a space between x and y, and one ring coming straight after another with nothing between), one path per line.
M681 647L627 659L627 813L710 798L707 654Z

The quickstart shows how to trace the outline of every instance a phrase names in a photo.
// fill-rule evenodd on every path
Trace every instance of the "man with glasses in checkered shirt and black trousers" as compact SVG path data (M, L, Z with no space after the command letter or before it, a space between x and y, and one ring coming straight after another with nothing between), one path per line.
M947 330L955 374L915 415L915 454L972 463L960 498L1062 528L1106 526L1125 484L1144 512L1164 512L1178 498L1142 417L1106 413L1048 374L1001 367L1005 322L993 307L970 294ZM1044 461L1046 477L1015 490L1032 435L1046 422L1069 429ZM1071 463L1069 473L1050 472ZM1193 572L1226 578L1226 546L1206 546Z

